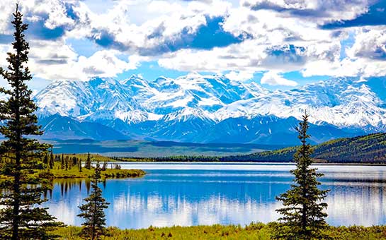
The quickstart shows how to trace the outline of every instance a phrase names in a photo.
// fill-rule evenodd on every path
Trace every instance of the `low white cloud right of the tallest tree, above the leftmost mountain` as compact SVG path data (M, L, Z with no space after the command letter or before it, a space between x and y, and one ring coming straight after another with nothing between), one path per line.
M139 66L146 57L121 57L116 50L101 50L89 57L79 56L60 42L31 42L30 69L34 76L45 79L87 80L93 76L115 77ZM39 45L41 45L39 47Z

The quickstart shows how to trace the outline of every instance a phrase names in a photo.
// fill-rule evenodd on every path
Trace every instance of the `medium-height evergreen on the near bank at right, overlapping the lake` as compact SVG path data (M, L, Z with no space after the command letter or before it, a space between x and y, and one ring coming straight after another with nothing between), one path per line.
M297 127L298 138L302 145L294 155L296 169L290 172L295 175L291 188L276 199L283 202L283 208L276 210L282 215L278 229L274 233L276 239L322 239L322 230L327 227L324 220L327 203L321 201L327 196L328 190L320 190L317 178L323 176L312 164L312 148L307 143L309 115L305 112L302 122Z

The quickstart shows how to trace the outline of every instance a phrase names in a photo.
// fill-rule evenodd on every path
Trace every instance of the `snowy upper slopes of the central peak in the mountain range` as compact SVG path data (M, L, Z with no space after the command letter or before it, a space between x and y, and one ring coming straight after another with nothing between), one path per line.
M157 114L191 107L215 112L226 104L254 96L245 85L224 76L190 73L176 79L157 78L151 84L158 92L143 106Z

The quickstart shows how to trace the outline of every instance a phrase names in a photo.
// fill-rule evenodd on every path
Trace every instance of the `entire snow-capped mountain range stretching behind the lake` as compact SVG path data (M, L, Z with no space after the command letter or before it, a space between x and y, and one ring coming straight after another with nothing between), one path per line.
M57 80L34 100L45 138L295 144L295 126L307 109L312 141L320 143L385 131L383 83L383 78L332 78L271 91L257 83L190 73L154 81L140 76ZM102 127L98 134L90 130Z

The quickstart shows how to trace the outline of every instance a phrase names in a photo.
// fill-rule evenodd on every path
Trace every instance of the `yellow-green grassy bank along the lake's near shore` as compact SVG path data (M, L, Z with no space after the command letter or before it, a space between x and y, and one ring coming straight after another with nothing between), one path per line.
M55 234L61 239L82 239L81 227L65 227ZM273 224L251 223L246 227L215 224L194 227L149 227L147 229L118 229L109 227L102 239L271 239ZM386 226L329 227L332 239L386 239Z

